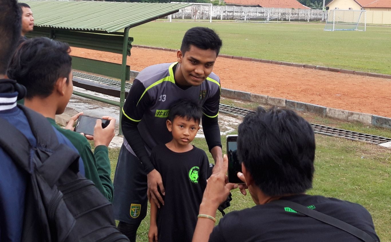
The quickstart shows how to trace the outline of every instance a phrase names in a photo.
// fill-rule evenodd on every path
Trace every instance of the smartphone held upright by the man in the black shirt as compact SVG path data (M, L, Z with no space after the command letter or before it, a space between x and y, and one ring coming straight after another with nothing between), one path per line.
M228 155L228 182L243 183L237 176L242 172L242 164L237 157L237 134L227 135L227 155Z

